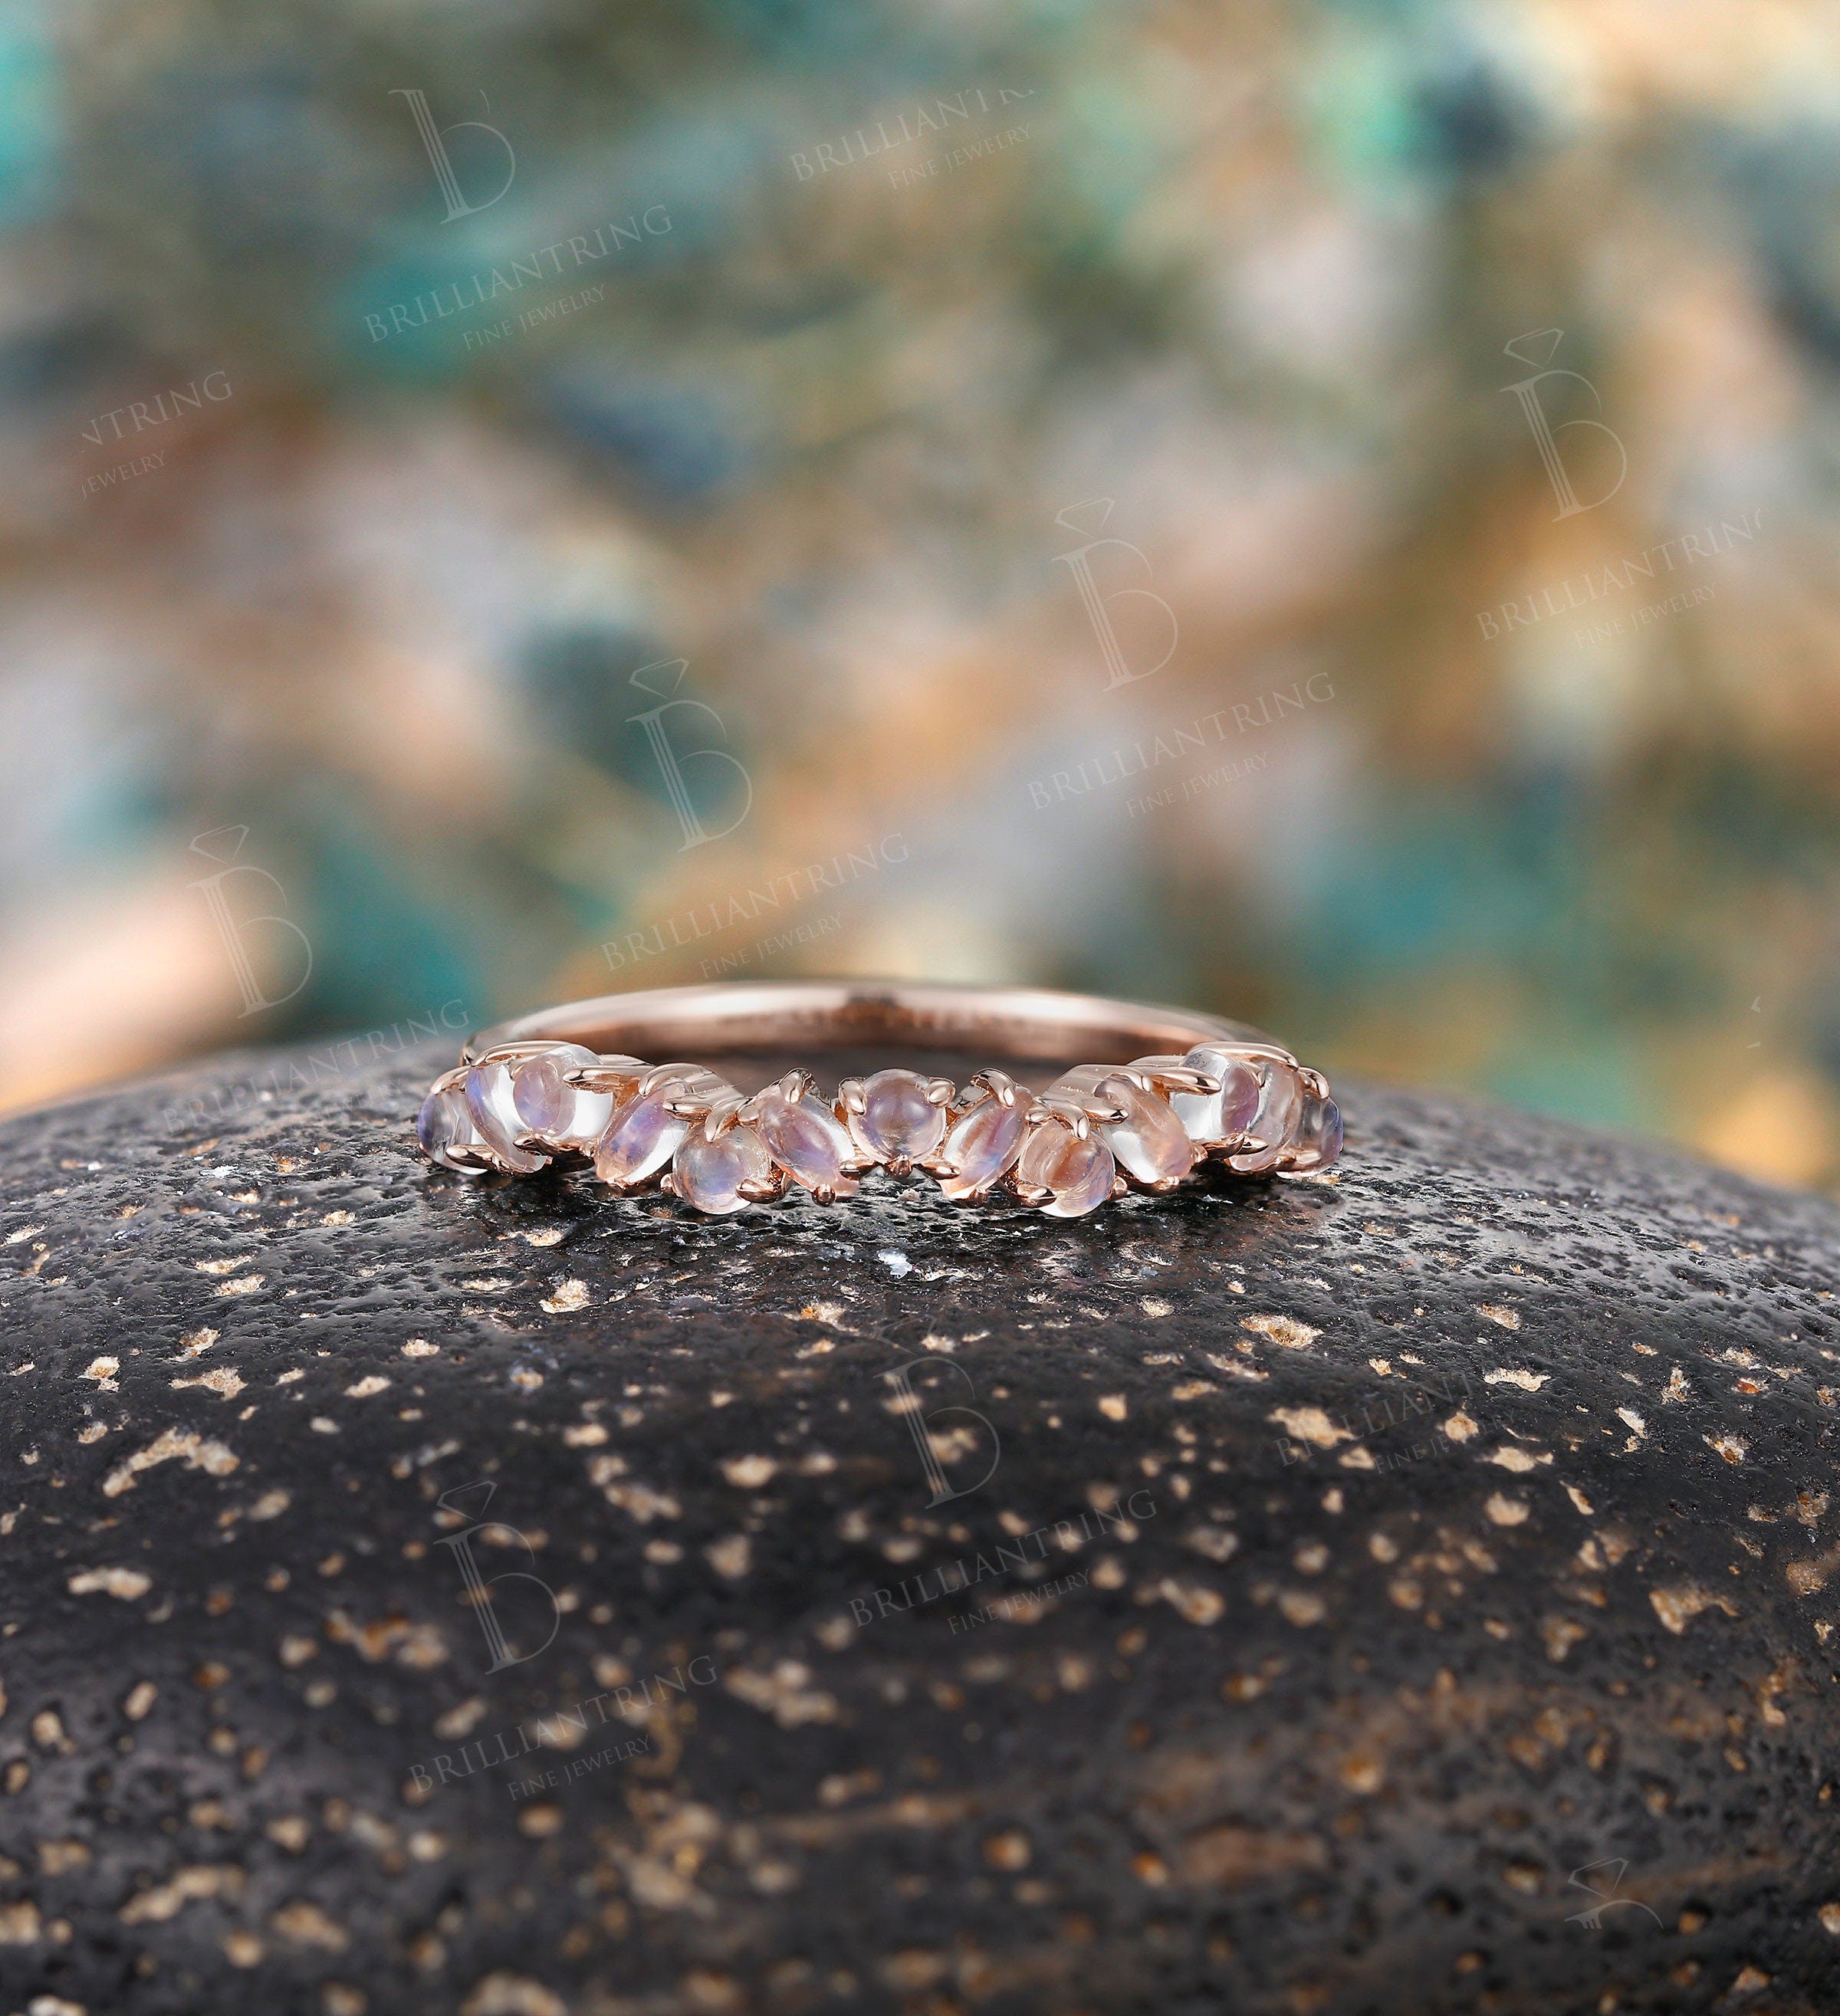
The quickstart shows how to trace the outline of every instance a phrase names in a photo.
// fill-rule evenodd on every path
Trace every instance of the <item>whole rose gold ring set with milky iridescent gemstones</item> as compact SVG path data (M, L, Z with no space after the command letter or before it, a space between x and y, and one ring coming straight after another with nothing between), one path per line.
M635 1054L677 1050L705 1062ZM969 1083L879 1068L844 1077L826 1105L808 1070L782 1068L800 1054L913 1050L955 1068L963 1058ZM979 1068L990 1056L1030 1066L1028 1081ZM758 1089L742 1091L730 1070ZM832 1204L871 1169L923 1169L947 1198L1004 1185L1080 1218L1133 1185L1175 1189L1209 1157L1274 1175L1326 1169L1342 1149L1322 1073L1239 1022L905 980L717 982L544 1008L470 1036L415 1125L445 1169L526 1175L590 1155L623 1195L657 1187L709 1214L772 1204L792 1185Z

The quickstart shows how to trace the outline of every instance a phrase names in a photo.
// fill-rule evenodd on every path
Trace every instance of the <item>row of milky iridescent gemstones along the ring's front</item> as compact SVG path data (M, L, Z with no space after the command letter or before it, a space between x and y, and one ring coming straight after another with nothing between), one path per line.
M699 1212L770 1204L792 1185L820 1204L871 1169L923 1169L947 1198L998 1185L1054 1218L1106 1198L1175 1189L1207 1157L1241 1175L1326 1169L1342 1115L1322 1075L1268 1044L1201 1042L1185 1056L1078 1064L1044 1093L981 1070L877 1070L830 1105L802 1070L750 1095L701 1064L512 1042L435 1081L417 1133L447 1169L528 1173L590 1155L619 1191L655 1183Z

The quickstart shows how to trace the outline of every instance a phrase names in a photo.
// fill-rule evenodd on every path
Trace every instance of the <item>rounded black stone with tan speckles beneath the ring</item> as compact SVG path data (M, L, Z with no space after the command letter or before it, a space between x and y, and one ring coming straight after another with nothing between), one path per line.
M1832 1206L707 1222L445 1060L0 1129L0 2010L1840 2006Z

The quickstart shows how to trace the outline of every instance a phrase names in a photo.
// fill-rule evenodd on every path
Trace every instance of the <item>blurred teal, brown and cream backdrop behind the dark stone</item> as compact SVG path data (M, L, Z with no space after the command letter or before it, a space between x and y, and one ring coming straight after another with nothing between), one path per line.
M0 1103L1014 978L1836 1179L1818 0L6 0L0 107Z

